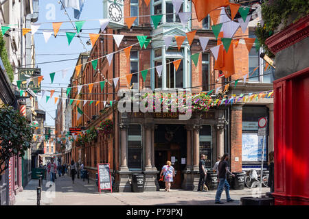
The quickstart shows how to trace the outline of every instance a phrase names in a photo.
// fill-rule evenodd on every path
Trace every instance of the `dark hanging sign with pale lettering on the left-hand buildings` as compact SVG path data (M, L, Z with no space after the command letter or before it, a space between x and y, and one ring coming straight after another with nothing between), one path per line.
M41 76L41 68L18 68L19 70L19 81L21 82L21 90L27 90L30 88L35 93L41 92L41 83L38 85L38 80L34 79L30 81L27 87L27 79L32 79L33 77Z

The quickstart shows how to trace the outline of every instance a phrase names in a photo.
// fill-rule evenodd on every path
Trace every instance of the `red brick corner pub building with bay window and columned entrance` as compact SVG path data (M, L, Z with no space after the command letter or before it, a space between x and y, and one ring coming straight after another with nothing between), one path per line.
M121 5L121 4L120 4ZM181 11L192 12L192 19L183 28L179 17L171 7L172 1L159 0L151 1L149 7L144 1L125 0L124 17L139 16L135 25L128 29L126 25L120 28L106 28L106 32L96 41L88 59L88 64L76 77L78 84L93 83L90 92L89 86L83 86L79 96L77 88L71 89L71 99L81 99L94 101L84 105L83 101L77 103L84 114L80 123L77 122L77 107L72 107L72 127L98 127L100 122L110 119L113 121L113 133L104 136L101 133L98 140L84 145L73 143L72 157L74 160L81 159L84 166L89 170L91 178L95 178L97 164L109 163L112 175L115 177L115 189L119 192L130 192L130 181L133 173L144 173L146 176L146 190L159 190L158 174L167 160L172 161L176 170L176 177L172 188L183 188L186 190L196 190L199 172L198 162L201 153L206 155L207 168L212 168L216 162L216 157L227 152L231 155L231 170L240 172L243 168L252 168L258 165L258 160L246 160L242 162L242 138L244 133L248 139L255 140L258 144L257 119L261 116L268 116L266 104L272 104L271 99L259 99L250 103L242 101L234 105L220 105L211 107L208 112L194 113L189 120L179 120L178 114L170 113L141 113L125 112L120 113L117 107L120 89L131 88L131 92L139 93L143 88L159 90L187 90L193 93L208 92L221 86L225 86L227 81L233 81L243 77L251 70L251 62L258 62L260 65L259 75L263 74L263 66L260 57L256 54L250 55L246 45L240 40L235 51L236 74L225 79L219 78L218 70L214 70L214 56L209 48L216 46L217 41L210 29L212 21L205 18L198 22L191 1L183 1ZM105 12L104 12L105 13ZM173 13L173 14L169 14ZM161 23L155 29L149 14L163 15ZM189 31L197 30L192 45L185 40L181 49L177 49L176 42L170 44L168 49L162 36L185 36ZM248 36L249 30L243 34L238 29L234 37ZM124 38L117 48L111 34L122 34ZM141 49L137 36L151 36L152 41L146 49ZM195 66L191 60L191 55L202 51L198 37L209 37L205 53L201 53L198 64ZM102 55L123 50L133 45L130 50L130 60L127 60L124 51L116 52L113 55L111 65L106 58L99 59L96 70L91 66L91 60L95 60ZM252 57L251 57L252 56ZM253 60L253 58L255 60ZM182 59L176 71L172 62ZM250 62L251 60L251 62ZM257 61L258 60L258 61ZM251 63L251 65L250 65ZM163 66L161 77L155 71L155 66ZM146 81L140 73L141 70L148 70ZM130 85L128 85L126 75L133 75ZM258 78L260 78L258 75ZM113 78L120 77L117 87L114 87ZM98 81L106 80L104 89L101 92ZM262 92L272 90L272 83L262 83L263 81L250 81L247 83L238 82L234 86L231 83L227 94L240 94L250 92ZM75 80L77 81L77 80ZM134 83L134 84L133 84ZM71 84L77 86L77 83ZM136 86L136 87L135 87ZM223 87L224 88L224 87ZM223 89L220 89L221 92ZM133 93L133 99L136 97ZM75 96L73 98L73 96ZM113 102L110 106L109 101ZM107 101L104 107L104 102ZM132 105L131 105L132 106ZM271 107L270 107L271 108ZM176 115L176 116L175 116ZM245 119L245 120L244 120ZM252 120L252 121L251 121ZM253 123L253 127L244 129L247 123ZM244 133L243 131L244 130ZM269 140L267 140L268 144ZM268 144L271 147L271 143ZM256 145L258 146L258 145ZM255 158L258 151L255 151Z

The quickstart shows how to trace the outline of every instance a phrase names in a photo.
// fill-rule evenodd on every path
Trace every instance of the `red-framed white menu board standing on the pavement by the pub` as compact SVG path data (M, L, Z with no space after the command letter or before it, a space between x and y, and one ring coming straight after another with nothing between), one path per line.
M98 164L98 183L99 192L101 190L111 190L113 192L109 164Z

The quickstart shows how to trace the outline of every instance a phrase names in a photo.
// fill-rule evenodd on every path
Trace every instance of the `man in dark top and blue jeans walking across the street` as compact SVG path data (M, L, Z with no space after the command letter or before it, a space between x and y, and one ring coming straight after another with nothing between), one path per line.
M229 173L232 177L235 177L235 175L233 175L233 173L229 171L229 164L227 163L228 160L229 160L229 155L225 153L223 157L221 157L221 160L219 163L219 167L218 167L219 185L218 185L217 192L216 192L216 202L215 202L216 204L223 204L220 201L223 188L225 188L225 194L227 195L227 202L234 201L229 196L229 183L227 182L227 173Z

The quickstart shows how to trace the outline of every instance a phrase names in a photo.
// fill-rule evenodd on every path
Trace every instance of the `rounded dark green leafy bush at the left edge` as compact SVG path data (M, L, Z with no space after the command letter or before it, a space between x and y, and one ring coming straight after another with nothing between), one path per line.
M10 157L25 155L30 149L32 128L24 116L8 105L0 107L0 174L8 168Z

